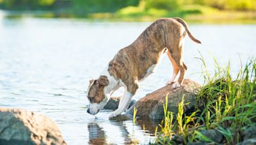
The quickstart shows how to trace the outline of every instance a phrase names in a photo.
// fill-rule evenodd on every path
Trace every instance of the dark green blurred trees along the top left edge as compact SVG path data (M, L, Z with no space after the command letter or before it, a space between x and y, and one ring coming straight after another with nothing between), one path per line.
M115 12L139 0L0 0L4 10L72 10L75 13Z

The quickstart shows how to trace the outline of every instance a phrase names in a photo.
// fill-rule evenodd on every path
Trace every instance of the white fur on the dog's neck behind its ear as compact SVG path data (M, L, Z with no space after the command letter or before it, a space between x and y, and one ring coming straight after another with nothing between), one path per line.
M110 95L120 87L119 80L116 80L113 76L111 76L111 74L109 74L108 66L105 67L104 71L102 71L100 75L108 78L109 84L108 86L105 86L104 93L110 97Z

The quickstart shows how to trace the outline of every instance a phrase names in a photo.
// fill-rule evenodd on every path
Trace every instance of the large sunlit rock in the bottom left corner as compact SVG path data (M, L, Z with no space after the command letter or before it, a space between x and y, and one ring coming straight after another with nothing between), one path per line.
M42 114L0 107L0 144L66 144L56 123Z

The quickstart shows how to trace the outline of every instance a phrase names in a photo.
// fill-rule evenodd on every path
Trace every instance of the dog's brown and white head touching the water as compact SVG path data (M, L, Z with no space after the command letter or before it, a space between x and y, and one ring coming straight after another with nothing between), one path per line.
M109 97L106 96L104 88L108 86L109 81L107 76L100 76L99 79L90 80L90 85L87 90L87 98L90 101L87 112L97 114L108 102Z

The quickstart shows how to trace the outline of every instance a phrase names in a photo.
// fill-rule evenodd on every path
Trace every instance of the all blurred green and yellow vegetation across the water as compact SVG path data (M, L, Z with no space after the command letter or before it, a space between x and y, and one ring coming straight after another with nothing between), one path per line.
M256 22L255 0L0 0L3 10L47 10L37 17L148 21L182 17L194 22ZM49 15L51 12L51 15Z

